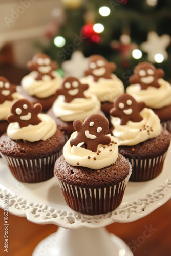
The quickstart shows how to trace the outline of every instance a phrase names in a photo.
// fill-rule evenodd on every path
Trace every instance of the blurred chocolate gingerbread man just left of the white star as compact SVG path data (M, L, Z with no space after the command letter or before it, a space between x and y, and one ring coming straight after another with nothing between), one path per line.
M43 80L47 76L54 79L55 77L52 72L58 68L58 64L44 53L36 54L33 59L27 63L27 66L31 71L37 72L35 80Z

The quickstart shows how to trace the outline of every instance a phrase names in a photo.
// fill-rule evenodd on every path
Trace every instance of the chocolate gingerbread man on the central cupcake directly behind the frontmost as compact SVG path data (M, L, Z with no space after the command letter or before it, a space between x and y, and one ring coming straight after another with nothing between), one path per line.
M76 77L66 77L61 88L56 90L56 95L64 95L65 102L70 103L75 98L86 98L84 91L89 88L88 84L82 84Z

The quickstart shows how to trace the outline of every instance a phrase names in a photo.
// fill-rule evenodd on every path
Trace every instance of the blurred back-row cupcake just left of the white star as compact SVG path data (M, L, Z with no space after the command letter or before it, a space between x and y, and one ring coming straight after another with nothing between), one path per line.
M22 79L21 93L33 104L40 103L46 112L56 99L56 90L60 88L62 78L56 72L58 65L48 55L38 53L28 62L28 68L31 73Z

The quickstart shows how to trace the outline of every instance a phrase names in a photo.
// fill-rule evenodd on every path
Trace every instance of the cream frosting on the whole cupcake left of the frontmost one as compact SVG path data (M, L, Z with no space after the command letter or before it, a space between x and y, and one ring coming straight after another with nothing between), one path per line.
M55 121L47 114L40 113L38 117L42 122L37 125L20 128L18 122L10 123L7 128L7 135L12 140L27 140L30 142L49 139L57 130Z

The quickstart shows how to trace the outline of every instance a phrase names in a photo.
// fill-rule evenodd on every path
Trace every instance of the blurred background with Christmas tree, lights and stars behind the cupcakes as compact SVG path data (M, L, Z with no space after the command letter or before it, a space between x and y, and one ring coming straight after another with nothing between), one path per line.
M1 0L0 7L1 66L25 69L41 51L68 74L73 62L66 60L80 65L101 54L116 63L125 87L140 61L162 68L171 80L170 0Z

